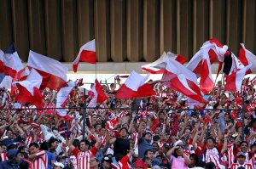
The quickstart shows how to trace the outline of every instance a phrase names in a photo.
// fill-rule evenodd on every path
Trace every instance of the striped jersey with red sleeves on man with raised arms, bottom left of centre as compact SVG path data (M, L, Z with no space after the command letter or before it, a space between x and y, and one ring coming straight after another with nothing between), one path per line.
M98 149L95 146L93 146L93 148L90 149L89 151L85 152L79 151L78 148L73 149L73 155L75 155L77 158L77 168L90 169L90 158L96 155L97 150Z

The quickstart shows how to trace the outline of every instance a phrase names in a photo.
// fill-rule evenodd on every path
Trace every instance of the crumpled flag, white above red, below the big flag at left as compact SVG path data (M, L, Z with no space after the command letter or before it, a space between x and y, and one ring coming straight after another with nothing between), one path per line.
M25 81L13 82L19 89L19 94L16 100L20 103L29 102L39 107L42 106L43 96L39 91L39 87L43 81L43 77L37 72L37 70L31 70L29 76Z

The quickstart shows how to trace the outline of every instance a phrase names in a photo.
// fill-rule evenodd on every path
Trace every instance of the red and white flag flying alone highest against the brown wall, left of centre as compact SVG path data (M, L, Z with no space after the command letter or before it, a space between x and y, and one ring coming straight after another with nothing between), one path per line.
M77 58L73 61L73 71L77 72L79 62L87 62L90 64L96 64L96 45L95 39L85 43L79 51Z

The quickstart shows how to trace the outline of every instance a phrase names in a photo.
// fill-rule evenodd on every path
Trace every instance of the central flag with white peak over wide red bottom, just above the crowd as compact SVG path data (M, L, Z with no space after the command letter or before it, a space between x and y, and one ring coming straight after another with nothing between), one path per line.
M147 76L141 76L137 72L132 71L131 75L115 94L115 98L134 99L155 95L153 87L151 87L150 84L145 83L148 76L149 74Z

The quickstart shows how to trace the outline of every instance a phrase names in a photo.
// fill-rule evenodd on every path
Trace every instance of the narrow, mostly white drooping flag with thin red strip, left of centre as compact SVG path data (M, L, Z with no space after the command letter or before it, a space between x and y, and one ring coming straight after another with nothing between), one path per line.
M57 102L56 108L64 108L67 104L68 96L73 90L74 87L62 87L61 90L57 93ZM67 110L57 109L57 114L61 117L67 115Z

